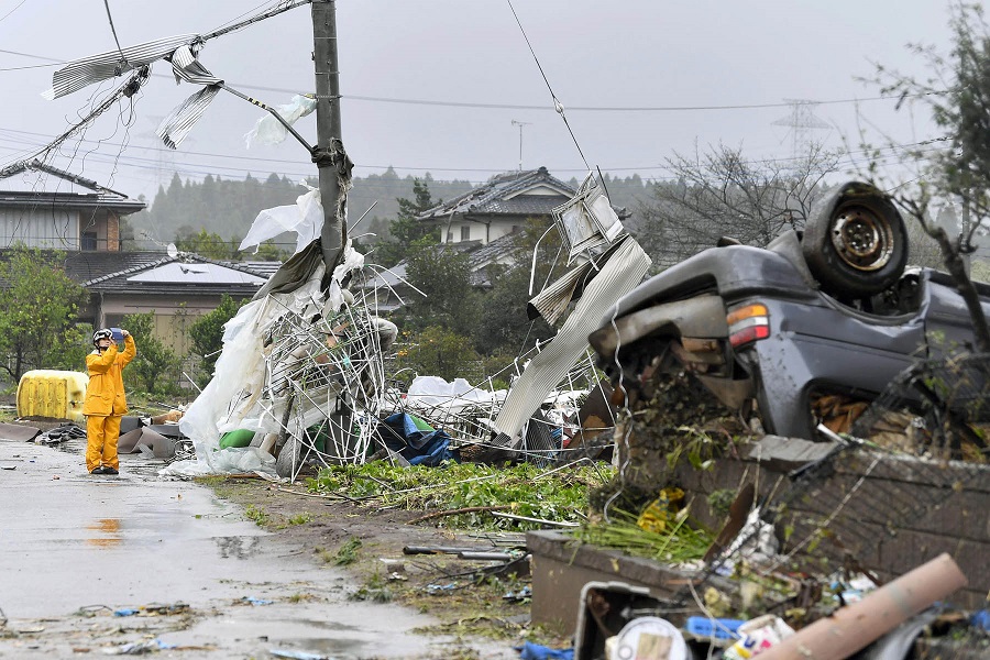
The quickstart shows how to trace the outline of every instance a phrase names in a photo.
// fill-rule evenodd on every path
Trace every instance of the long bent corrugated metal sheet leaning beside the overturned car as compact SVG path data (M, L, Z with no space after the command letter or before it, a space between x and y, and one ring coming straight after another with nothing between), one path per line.
M587 336L597 330L606 310L632 290L650 268L650 257L632 237L627 237L588 283L581 299L557 337L532 359L513 384L495 428L515 438L526 420L540 407L547 394L562 382L568 371L587 350Z

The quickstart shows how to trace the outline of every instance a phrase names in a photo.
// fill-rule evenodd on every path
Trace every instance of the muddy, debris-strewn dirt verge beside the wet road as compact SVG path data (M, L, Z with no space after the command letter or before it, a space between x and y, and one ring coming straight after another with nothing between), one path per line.
M266 530L304 548L318 564L345 569L356 588L352 597L394 602L440 620L425 634L465 641L482 637L504 641L506 648L525 639L570 644L529 625L530 576L522 532L448 529L441 526L442 516L417 521L431 512L315 495L307 492L305 476L293 485L235 476L198 481L243 506L248 517ZM514 559L460 559L455 549Z

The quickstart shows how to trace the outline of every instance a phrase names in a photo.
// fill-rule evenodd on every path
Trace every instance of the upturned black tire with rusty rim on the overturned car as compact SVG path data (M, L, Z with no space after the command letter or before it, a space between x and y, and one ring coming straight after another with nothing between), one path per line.
M862 297L893 286L908 264L908 232L890 199L875 186L849 183L825 197L801 241L822 289Z

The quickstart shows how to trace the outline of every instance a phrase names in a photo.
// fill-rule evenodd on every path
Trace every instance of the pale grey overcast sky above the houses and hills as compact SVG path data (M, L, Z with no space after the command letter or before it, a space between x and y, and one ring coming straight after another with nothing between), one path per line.
M108 1L123 46L206 33L275 4ZM870 75L873 63L923 70L906 44L945 47L943 2L513 0L513 6L588 164L616 176L664 178L664 158L693 151L695 142L741 145L752 158L789 157L793 129L773 123L791 114L787 99L822 102L814 114L832 128L803 135L832 146L842 146L844 135L855 144L857 127L882 128L904 143L935 135L921 110L894 113L890 100L853 99L878 96L856 80ZM514 120L525 122L525 168L546 165L561 178L582 176L584 163L552 110L507 0L339 0L337 21L342 132L358 176L393 166L400 176L430 172L438 179L483 182L519 166L520 128ZM46 101L40 95L52 85L57 66L51 63L113 48L103 0L0 0L0 165L45 144L120 84ZM212 40L199 58L230 86L279 105L312 91L311 50L306 6ZM249 172L299 179L316 173L295 141L245 148L243 134L262 112L226 92L176 152L162 146L154 138L158 121L196 89L176 86L170 67L158 63L133 108L125 103L106 113L52 164L150 198L175 170L193 179L206 174L242 179ZM492 105L515 108L481 107ZM635 108L640 110L623 110ZM316 141L312 117L297 128Z

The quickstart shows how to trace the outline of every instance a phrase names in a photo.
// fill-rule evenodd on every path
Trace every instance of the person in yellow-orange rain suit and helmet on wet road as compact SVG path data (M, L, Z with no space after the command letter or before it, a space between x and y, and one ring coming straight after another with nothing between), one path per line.
M119 474L117 440L120 418L128 411L123 391L123 367L138 354L134 338L121 330L124 350L120 352L113 332L103 328L92 333L96 349L86 356L89 385L82 415L86 416L86 469L90 474Z

